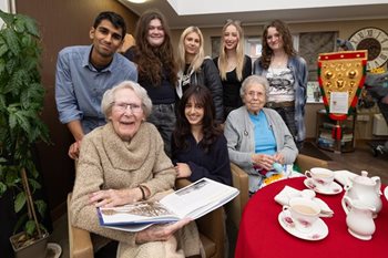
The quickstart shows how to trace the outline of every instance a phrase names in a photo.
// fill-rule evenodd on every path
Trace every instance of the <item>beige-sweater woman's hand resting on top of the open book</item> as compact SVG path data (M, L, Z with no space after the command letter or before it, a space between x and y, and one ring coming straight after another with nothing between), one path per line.
M133 204L142 198L142 190L139 187L131 189L106 189L92 193L89 196L89 203L95 207L114 207Z

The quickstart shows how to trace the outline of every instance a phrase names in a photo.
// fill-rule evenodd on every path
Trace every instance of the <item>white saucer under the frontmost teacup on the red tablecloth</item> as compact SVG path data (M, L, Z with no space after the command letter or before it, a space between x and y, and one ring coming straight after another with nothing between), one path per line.
M288 210L279 213L277 218L284 230L300 239L317 241L324 239L329 234L327 225L320 218L312 225L312 230L308 233L300 231L296 228Z

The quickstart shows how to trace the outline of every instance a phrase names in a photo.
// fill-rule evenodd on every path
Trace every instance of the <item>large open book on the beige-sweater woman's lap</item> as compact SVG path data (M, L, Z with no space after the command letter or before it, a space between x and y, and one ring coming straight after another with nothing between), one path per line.
M119 230L140 231L153 224L200 218L238 195L238 189L202 178L166 195L159 202L140 202L113 208L98 208L100 225Z

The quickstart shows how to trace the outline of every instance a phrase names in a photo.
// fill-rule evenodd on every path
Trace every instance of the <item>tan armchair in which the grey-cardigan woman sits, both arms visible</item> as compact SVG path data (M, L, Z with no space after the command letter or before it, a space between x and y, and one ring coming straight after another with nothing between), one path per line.
M310 169L312 167L328 167L326 161L299 154L296 157L295 164L300 168L300 172ZM246 203L248 202L248 175L237 165L231 163L233 186L239 189L239 195L227 204L227 216L233 224L238 228L242 219L242 214Z

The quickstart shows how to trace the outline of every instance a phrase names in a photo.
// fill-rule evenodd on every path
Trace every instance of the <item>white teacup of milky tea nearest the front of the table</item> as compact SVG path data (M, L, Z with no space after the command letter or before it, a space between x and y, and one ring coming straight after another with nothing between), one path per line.
M304 197L295 197L283 206L283 210L288 210L296 229L309 231L312 225L318 219L320 207L314 200Z

